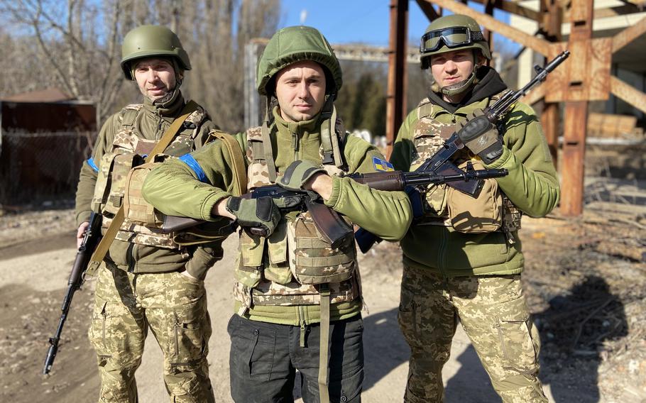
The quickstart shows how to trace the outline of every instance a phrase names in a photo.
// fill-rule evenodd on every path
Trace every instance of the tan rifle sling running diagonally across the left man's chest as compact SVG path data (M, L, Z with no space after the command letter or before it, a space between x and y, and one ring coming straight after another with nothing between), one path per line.
M197 108L198 105L195 101L189 101L184 106L184 109L182 109L182 115L176 118L175 121L171 123L170 127L166 129L162 138L160 138L158 143L155 145L155 148L153 148L150 154L148 154L148 157L146 157L146 162L153 161L155 159L155 155L163 153L163 151L173 141L173 138L175 138L177 132L180 131L180 128L182 128L182 125L184 124L186 118L188 118L188 116L190 116L190 114L192 114L193 112L197 111ZM119 232L121 224L124 223L124 219L124 205L121 204L119 211L117 211L114 215L114 218L112 219L112 222L104 233L103 238L101 238L101 241L99 241L97 248L94 249L92 257L89 258L87 271L85 272L86 276L92 276L94 275L94 272L97 271L99 265L101 265L103 261L103 258L105 258L106 253L108 253L110 245L112 245L112 241L114 241L114 237L116 237L116 233Z

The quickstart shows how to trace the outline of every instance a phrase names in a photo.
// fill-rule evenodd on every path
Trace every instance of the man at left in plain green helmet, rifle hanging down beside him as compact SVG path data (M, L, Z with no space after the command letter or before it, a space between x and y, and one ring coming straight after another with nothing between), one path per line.
M189 57L180 39L163 26L128 32L121 67L136 82L143 104L110 116L99 132L92 158L84 162L76 196L79 241L94 211L104 231L123 209L128 172L158 142L170 145L159 158L202 147L216 126L201 106L180 91ZM180 126L173 126L184 116ZM172 139L172 140L171 140ZM137 402L135 372L148 329L163 350L163 376L174 402L213 402L207 363L211 324L204 276L221 258L219 244L182 245L149 223L126 216L97 272L89 338L97 351L100 402Z

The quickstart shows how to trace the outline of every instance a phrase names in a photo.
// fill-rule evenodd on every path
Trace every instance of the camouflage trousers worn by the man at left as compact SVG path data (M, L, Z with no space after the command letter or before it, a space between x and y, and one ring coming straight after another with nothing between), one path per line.
M99 402L138 401L135 371L148 327L163 351L171 401L214 402L204 282L180 272L133 274L104 266L99 269L89 329L99 362Z

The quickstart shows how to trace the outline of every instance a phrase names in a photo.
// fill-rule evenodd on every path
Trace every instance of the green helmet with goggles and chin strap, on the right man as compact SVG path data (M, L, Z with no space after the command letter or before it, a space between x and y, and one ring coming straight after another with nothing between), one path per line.
M489 45L482 35L480 26L473 18L461 14L444 16L430 23L422 35L420 53L422 69L430 66L430 57L439 53L451 52L457 49L475 49L488 60L491 60ZM463 82L440 89L442 94L454 95L464 92L476 79L476 69Z

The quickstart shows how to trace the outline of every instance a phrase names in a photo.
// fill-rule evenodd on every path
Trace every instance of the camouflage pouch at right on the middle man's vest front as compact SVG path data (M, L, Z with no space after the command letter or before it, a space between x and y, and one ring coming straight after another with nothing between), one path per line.
M309 211L288 223L289 262L301 284L342 282L352 277L356 262L354 238L332 248L324 241Z

